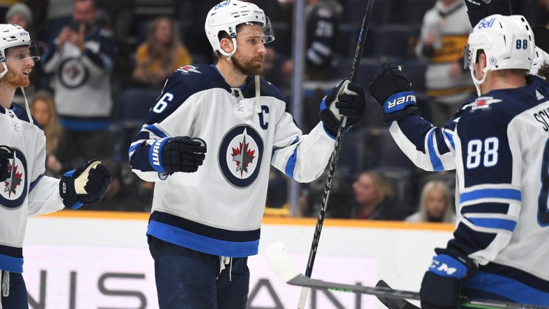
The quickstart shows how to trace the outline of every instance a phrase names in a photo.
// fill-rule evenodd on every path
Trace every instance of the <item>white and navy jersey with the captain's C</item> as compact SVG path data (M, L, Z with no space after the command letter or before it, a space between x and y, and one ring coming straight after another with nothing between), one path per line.
M167 80L130 146L130 165L156 182L148 235L212 255L255 255L270 165L298 182L327 166L334 138L319 124L308 135L295 125L279 90L261 81L231 88L213 65L179 68ZM152 167L150 145L166 136L206 141L196 173L165 177Z

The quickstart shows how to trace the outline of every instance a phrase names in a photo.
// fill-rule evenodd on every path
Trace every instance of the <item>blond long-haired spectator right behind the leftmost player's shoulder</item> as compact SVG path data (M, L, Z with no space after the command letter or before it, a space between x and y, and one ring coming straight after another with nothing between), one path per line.
M61 177L63 164L59 161L60 143L63 141L63 129L55 111L54 97L48 90L38 90L31 100L31 114L46 136L46 173Z

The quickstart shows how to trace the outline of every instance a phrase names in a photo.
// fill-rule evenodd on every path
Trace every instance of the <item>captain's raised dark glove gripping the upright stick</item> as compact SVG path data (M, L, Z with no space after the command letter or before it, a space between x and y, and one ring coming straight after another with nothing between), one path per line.
M326 131L336 136L341 116L347 117L345 129L348 130L364 118L365 111L366 100L364 100L362 86L343 79L324 97L320 103L318 116L324 123Z

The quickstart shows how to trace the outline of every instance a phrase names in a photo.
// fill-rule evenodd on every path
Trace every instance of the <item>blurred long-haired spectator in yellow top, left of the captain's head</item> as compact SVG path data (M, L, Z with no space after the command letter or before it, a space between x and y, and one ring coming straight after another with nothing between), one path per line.
M146 42L137 48L133 78L141 84L162 88L169 74L190 64L191 55L173 20L158 17L150 23Z

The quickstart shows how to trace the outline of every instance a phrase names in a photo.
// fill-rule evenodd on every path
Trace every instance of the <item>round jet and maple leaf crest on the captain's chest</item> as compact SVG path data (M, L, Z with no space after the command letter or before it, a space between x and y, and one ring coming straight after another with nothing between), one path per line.
M231 129L219 147L219 167L235 187L248 187L256 180L262 158L263 139L246 125Z

